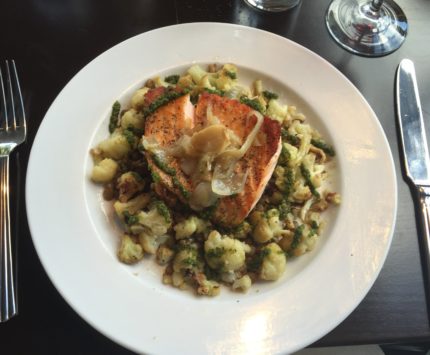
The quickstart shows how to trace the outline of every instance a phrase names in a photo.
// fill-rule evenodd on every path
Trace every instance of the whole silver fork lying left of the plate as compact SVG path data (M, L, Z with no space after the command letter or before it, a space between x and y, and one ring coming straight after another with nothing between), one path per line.
M10 231L9 155L27 135L24 104L13 60L10 65L6 61L5 82L0 68L0 95L0 322L5 322L18 313Z

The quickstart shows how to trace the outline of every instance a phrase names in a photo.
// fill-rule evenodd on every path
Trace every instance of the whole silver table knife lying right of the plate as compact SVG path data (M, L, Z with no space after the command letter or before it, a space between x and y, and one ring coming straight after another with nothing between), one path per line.
M414 63L409 59L403 59L398 67L396 96L405 172L419 203L420 246L427 299L430 300L430 162ZM427 304L430 306L429 301Z

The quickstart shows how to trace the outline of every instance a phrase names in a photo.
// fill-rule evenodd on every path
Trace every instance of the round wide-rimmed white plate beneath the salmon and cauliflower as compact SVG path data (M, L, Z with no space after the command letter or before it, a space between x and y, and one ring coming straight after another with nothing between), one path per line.
M280 281L246 295L223 289L218 298L196 298L163 285L152 260L120 264L100 188L88 179L88 151L107 135L113 101L125 102L147 78L193 62L232 62L244 79L263 77L338 153L330 181L343 203L328 213L317 249L290 262ZM195 23L120 43L67 84L34 141L26 198L33 241L52 282L114 341L145 353L286 353L328 333L364 298L391 243L397 189L375 114L334 67L268 32Z

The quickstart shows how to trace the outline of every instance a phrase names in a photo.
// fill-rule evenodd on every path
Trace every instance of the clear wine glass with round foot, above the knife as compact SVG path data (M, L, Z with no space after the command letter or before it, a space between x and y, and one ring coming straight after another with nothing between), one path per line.
M393 0L333 0L326 25L339 45L367 57L395 51L408 30L406 16Z

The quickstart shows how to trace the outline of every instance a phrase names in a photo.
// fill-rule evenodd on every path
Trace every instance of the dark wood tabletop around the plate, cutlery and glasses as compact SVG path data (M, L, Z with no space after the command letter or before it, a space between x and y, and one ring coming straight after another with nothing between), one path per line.
M242 0L4 0L0 3L0 59L17 61L29 121L28 141L11 160L13 226L19 237L20 314L0 324L1 354L129 353L82 320L43 270L26 220L27 161L45 112L64 85L89 61L136 34L202 21L257 27L316 52L361 91L387 135L399 192L390 253L363 302L314 346L430 342L420 234L411 191L401 170L394 110L395 71L402 58L410 58L415 62L425 118L430 117L430 1L398 0L410 24L407 40L398 51L376 59L351 55L334 43L324 25L328 4L329 0L303 0L300 7L289 12L267 14L250 9ZM383 183L375 177L375 184ZM67 201L61 208L67 210Z

